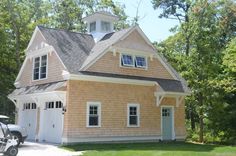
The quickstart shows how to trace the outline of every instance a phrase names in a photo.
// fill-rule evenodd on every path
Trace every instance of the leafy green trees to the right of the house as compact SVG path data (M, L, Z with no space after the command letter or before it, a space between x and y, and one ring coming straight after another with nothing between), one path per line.
M223 132L224 136L235 136L235 127L231 124L236 112L235 92L227 90L235 88L236 76L232 76L232 70L226 72L234 69L235 65L232 52L232 45L235 45L232 38L236 35L235 8L236 4L232 0L194 1L188 11L189 31L194 32L189 55L183 53L186 41L183 36L186 32L181 28L177 29L174 36L159 44L159 51L181 72L192 90L192 95L187 98L186 112L187 118L191 119L188 114L192 111L199 125L200 142L205 140L204 133L221 137ZM225 50L230 40L232 43ZM231 114L225 115L224 120L219 118L227 112Z

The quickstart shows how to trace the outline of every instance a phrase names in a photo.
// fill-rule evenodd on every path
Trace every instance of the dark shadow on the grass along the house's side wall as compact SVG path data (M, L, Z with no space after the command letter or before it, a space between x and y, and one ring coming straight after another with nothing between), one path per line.
M105 144L75 144L62 146L67 150L72 151L122 151L122 150L150 150L150 151L195 151L195 152L209 152L219 145L193 144L193 143L105 143Z

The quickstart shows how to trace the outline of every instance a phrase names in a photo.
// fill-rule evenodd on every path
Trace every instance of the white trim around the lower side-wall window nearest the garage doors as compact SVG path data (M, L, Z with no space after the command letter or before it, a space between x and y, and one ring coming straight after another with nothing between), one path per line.
M97 126L90 126L89 125L89 107L90 106L97 106L98 107L98 125ZM101 119L102 119L101 110L102 110L101 102L92 102L92 101L87 102L87 113L86 113L86 120L87 120L86 127L87 128L101 127Z

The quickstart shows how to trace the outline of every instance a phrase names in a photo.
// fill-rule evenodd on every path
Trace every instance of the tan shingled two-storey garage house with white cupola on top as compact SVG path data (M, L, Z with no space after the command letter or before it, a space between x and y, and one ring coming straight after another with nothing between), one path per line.
M74 143L183 140L186 82L139 28L107 12L88 34L37 26L9 98L28 139Z

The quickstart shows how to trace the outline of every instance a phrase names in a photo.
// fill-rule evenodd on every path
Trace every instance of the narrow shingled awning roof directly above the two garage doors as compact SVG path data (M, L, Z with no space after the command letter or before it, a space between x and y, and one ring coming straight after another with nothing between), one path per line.
M51 83L46 83L46 84L34 85L34 86L27 86L27 87L15 89L8 96L14 97L18 95L51 92L51 91L56 91L65 86L66 86L66 81L58 81L58 82L51 82Z

